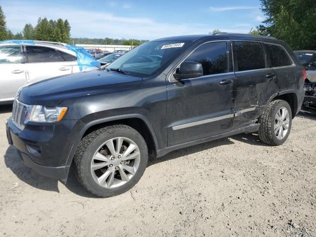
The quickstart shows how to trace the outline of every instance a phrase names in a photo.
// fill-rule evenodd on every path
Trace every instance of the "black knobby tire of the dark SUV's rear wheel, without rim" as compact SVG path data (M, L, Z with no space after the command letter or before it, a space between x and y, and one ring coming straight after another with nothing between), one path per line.
M289 114L289 127L286 135L282 139L276 137L274 125L276 119L276 113L282 107L285 107ZM259 138L262 142L273 146L279 146L283 144L291 131L292 126L292 111L290 105L284 100L274 100L268 104L259 117L260 128L258 131Z

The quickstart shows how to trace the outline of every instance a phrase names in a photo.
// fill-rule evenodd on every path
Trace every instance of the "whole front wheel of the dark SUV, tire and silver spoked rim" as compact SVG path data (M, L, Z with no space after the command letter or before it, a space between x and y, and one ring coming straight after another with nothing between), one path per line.
M85 136L74 158L77 178L91 193L111 197L131 189L142 177L148 150L144 138L126 125Z

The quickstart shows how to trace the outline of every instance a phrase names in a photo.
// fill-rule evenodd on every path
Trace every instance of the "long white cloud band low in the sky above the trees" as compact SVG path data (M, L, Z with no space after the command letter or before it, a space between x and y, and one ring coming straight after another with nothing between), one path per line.
M184 24L166 23L144 17L125 17L109 12L89 11L75 7L56 6L47 7L32 5L25 2L5 2L2 9L6 15L7 27L12 32L20 32L26 23L33 26L39 17L48 19L68 19L71 25L72 37L87 38L125 38L153 40L176 35L208 34L218 28L217 23L210 24ZM249 27L244 25L227 29L223 32L248 33Z

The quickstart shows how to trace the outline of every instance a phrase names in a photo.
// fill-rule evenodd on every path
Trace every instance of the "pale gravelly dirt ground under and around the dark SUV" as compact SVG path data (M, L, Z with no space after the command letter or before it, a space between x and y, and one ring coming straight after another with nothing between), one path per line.
M42 177L7 144L0 107L0 236L316 237L316 116L285 144L241 134L151 160L125 194L92 196L70 171Z

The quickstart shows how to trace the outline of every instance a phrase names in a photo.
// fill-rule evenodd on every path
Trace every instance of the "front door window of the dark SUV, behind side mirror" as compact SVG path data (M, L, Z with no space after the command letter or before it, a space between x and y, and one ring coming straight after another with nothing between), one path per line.
M203 76L228 72L226 42L210 42L199 46L185 62L202 64Z

